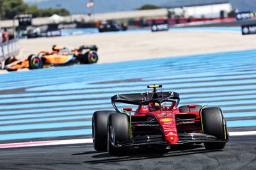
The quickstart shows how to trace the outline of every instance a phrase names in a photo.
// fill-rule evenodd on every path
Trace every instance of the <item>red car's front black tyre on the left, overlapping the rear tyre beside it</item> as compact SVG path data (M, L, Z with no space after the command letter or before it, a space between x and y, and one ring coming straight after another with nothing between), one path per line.
M126 114L114 113L108 118L108 152L111 155L124 155L129 148L116 148L111 144L120 144L129 139L129 117Z

